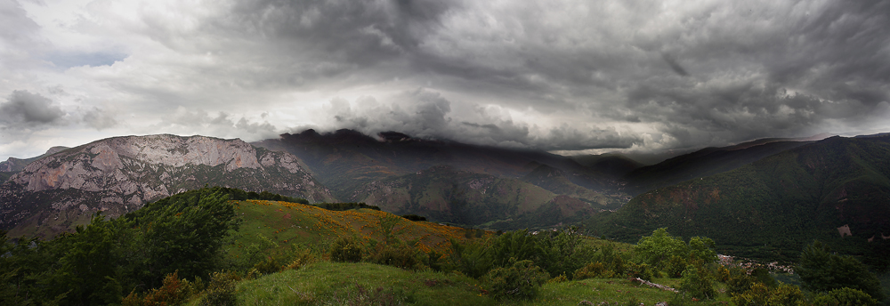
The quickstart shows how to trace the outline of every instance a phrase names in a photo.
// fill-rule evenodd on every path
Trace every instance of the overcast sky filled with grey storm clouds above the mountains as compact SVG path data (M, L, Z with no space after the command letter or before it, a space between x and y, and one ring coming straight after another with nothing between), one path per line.
M0 0L0 160L308 127L562 153L890 132L890 2Z

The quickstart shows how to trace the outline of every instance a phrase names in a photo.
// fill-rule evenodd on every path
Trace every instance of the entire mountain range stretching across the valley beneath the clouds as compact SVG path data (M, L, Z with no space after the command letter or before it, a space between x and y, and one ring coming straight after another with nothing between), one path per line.
M116 137L0 164L13 173L0 185L0 229L50 237L93 213L117 216L219 185L364 202L467 227L578 224L625 241L667 227L755 257L791 258L813 238L858 254L883 250L890 136L824 137L700 149L654 165L396 132L307 130L253 143Z

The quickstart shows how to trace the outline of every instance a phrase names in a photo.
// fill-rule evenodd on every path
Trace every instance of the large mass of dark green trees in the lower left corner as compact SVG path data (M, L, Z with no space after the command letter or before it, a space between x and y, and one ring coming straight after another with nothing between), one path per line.
M227 198L218 188L198 189L116 220L97 214L50 241L13 244L4 236L0 290L14 287L9 300L17 304L109 304L162 287L167 275L206 276L222 267L220 250L239 224Z

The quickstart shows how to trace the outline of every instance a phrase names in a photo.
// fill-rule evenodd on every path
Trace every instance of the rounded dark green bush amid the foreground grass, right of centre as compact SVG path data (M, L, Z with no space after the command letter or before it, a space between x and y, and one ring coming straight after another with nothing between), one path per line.
M496 298L532 299L538 288L550 278L545 270L531 261L510 261L509 268L491 270L486 278Z

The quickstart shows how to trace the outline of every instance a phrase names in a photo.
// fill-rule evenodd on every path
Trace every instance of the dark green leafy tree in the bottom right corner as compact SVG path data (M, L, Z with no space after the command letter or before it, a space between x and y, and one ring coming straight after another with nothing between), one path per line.
M830 254L829 247L820 241L806 246L797 267L800 280L808 290L828 292L849 287L880 300L884 293L880 280L868 268L851 256Z

